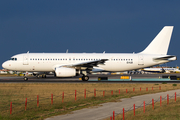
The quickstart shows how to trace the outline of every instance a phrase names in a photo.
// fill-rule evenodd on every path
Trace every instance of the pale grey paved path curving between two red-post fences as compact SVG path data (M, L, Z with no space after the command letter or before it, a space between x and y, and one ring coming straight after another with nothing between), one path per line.
M122 114L123 108L126 110L133 110L133 105L143 106L143 102L151 104L152 99L154 101L159 101L160 96L167 99L167 94L169 96L174 96L175 92L180 96L180 90L172 90L167 92L160 92L155 94L147 94L135 96L132 98L120 99L122 102L109 102L100 104L93 108L85 108L81 110L73 111L70 114L59 115L47 118L45 120L102 120L112 116L113 111L116 114Z

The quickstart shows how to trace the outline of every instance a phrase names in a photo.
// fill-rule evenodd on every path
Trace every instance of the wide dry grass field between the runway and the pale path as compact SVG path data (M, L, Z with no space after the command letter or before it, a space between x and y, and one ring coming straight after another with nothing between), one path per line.
M159 90L161 86L161 90ZM141 91L140 91L141 87ZM146 88L148 87L148 91ZM152 90L153 87L153 90ZM133 88L135 91L133 92ZM86 99L84 99L86 89ZM96 89L96 97L94 97ZM120 89L120 94L119 94ZM128 93L126 93L126 89ZM96 106L100 103L119 101L136 95L150 94L172 89L180 89L180 85L172 84L50 84L50 83L1 83L0 84L0 119L44 119L49 116L66 114L73 110ZM75 101L75 90L77 100ZM113 95L111 91L113 90ZM62 103L62 92L64 102ZM103 91L105 96L103 97ZM51 105L53 94L53 105ZM39 95L39 107L37 107ZM27 109L25 111L25 99ZM12 114L10 115L10 102Z

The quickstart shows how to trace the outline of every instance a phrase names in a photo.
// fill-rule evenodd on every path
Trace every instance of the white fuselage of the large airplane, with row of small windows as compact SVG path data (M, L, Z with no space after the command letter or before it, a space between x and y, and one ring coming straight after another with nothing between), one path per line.
M114 53L24 53L12 56L13 59L4 62L2 66L14 71L54 72L59 66L108 59L96 68L104 71L127 71L169 62L153 60L163 56Z

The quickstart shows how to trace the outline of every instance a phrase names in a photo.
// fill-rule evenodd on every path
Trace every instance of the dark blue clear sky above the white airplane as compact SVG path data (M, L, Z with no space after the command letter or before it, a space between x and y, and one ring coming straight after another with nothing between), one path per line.
M175 0L1 0L0 64L27 51L138 53L164 26L174 26L168 54L177 60L166 65L180 66L179 5Z

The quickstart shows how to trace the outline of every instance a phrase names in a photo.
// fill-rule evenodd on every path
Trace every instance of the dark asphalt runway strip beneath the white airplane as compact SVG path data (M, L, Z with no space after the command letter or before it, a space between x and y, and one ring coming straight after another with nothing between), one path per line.
M145 79L159 79L162 76L180 76L180 74L134 74L134 75L89 75L90 81L79 80L81 76L71 77L71 78L56 78L53 75L47 75L47 78L36 78L29 76L28 81L24 81L23 77L3 77L0 76L0 83L180 83L177 81L146 81ZM120 76L131 76L132 79L142 79L143 81L91 81L97 80L98 77L108 77L108 79L119 79Z

